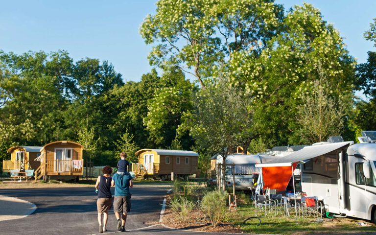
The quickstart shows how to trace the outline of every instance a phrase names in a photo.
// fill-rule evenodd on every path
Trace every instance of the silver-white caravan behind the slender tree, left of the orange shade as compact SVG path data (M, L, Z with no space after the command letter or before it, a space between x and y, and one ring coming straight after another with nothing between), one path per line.
M221 155L217 156L217 164L223 164ZM226 164L235 164L226 166L226 185L233 187L233 173L235 174L235 189L236 190L249 190L249 187L254 188L254 178L257 182L259 169L255 167L256 164L261 163L260 156L250 154L233 154L226 158ZM233 172L234 170L234 172ZM222 172L221 172L222 174Z

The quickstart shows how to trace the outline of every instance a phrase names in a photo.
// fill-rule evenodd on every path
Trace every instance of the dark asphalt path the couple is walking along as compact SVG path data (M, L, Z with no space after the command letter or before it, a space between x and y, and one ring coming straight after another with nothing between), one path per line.
M126 234L196 234L158 225L164 195L168 187L135 185L131 188L132 209ZM98 233L94 188L0 189L0 195L17 197L37 206L31 215L0 221L0 235L91 235ZM1 214L1 211L0 211ZM116 230L116 218L109 211L107 234ZM120 233L123 234L123 233ZM205 233L210 235L211 233Z

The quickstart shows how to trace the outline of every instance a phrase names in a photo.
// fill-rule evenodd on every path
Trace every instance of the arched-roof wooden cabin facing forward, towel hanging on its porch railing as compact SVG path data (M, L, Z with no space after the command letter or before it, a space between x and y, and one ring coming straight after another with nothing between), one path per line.
M41 165L35 172L35 180L42 176L57 176L54 178L60 179L81 176L84 169L83 149L81 144L71 141L47 143L37 159Z

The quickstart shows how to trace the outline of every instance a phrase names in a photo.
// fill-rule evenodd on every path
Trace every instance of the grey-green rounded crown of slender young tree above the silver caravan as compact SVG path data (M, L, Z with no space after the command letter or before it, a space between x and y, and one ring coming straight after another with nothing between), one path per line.
M249 138L253 123L252 110L248 109L251 97L221 78L217 84L197 92L194 100L193 111L187 114L185 123L189 133L199 148L219 153L226 160Z

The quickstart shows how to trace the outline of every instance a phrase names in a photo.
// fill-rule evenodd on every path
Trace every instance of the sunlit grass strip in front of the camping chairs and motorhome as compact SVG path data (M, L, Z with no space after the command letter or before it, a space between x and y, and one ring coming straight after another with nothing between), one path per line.
M261 225L257 226L258 220L252 219L247 221L247 225L242 224L245 219L255 216L255 208L251 205L240 205L236 212L229 212L227 222L230 222L244 231L244 233L259 234L339 234L339 233L359 233L359 232L376 232L376 226L369 221L338 218L324 219L318 221L316 218L301 218L296 223L295 213L287 218L284 215L275 215L271 212L264 216L263 212L258 212L261 219ZM362 227L356 222L365 222L372 225L371 227Z

